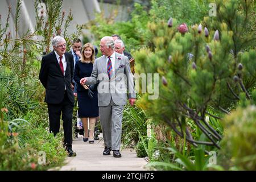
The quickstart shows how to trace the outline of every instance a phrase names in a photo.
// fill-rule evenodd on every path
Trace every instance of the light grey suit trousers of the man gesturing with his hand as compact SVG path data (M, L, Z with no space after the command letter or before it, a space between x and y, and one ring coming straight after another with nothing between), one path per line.
M124 105L116 105L111 99L108 106L100 106L101 128L106 147L120 150Z

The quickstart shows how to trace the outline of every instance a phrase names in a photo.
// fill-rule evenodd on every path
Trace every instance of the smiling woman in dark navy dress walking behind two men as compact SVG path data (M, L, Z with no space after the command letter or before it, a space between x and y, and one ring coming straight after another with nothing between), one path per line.
M74 80L77 83L77 101L79 104L79 118L84 126L84 142L88 141L88 118L89 118L89 143L94 143L94 127L98 117L98 93L97 85L82 86L80 79L92 74L95 59L94 47L86 43L82 47L81 59L75 65Z

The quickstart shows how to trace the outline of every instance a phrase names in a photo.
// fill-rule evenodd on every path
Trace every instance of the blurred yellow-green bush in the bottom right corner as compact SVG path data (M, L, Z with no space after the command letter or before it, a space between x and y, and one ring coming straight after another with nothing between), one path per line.
M221 141L221 165L225 169L255 170L256 107L237 108L223 119L225 133Z

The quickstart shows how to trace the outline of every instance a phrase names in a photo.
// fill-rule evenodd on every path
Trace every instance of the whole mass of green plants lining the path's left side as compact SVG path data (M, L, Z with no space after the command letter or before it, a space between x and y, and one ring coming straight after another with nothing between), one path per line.
M52 37L64 36L69 47L73 38L80 34L81 27L77 26L76 33L67 35L73 17L70 11L65 18L65 12L61 10L63 1L44 1L47 7L45 18L38 14L40 2L35 1L34 32L18 35L20 0L16 2L15 36L11 37L7 31L11 6L5 25L1 24L0 28L0 170L46 170L61 166L67 155L63 135L53 137L47 129L46 105L41 103L45 93L38 81L38 73L40 59L44 51L50 51ZM38 163L41 151L46 153L46 164L42 165Z

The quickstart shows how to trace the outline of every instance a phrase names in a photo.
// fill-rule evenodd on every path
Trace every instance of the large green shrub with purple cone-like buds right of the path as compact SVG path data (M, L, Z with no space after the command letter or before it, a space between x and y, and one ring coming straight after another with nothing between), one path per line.
M233 52L232 37L236 32L231 31L226 23L219 22L220 38L216 36L218 31L211 29L209 36L205 36L203 31L198 30L197 24L185 34L177 31L177 27L176 19L173 19L172 27L168 27L163 20L148 23L151 43L148 48L135 53L136 71L159 73L162 82L159 84L159 98L150 100L148 94L144 94L139 106L154 120L168 123L180 137L195 147L207 144L220 148L221 130L216 131L212 126L214 123L205 121L208 110L213 113L211 117L220 119L236 107L240 93L244 92L250 100L249 91L255 85L256 69L249 68L248 72L243 67L241 71ZM242 43L243 39L237 41ZM243 49L244 64L246 56L250 55L250 60L253 60L255 53L255 49L248 52ZM234 77L237 79L233 80ZM245 86L246 80L250 84ZM188 121L193 121L196 130L203 132L204 140L195 142L195 138L188 134Z

